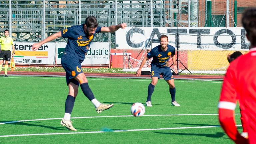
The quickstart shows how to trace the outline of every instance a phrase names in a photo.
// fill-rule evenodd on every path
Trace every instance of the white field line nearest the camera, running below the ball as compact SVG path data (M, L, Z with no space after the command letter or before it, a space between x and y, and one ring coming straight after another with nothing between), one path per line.
M236 126L240 127L242 125L236 125ZM130 129L130 130L114 130L112 132L153 131L153 130L172 130L172 129L195 129L195 128L216 128L216 127L220 127L220 126L175 127L175 128L154 128L154 129ZM106 131L70 132L70 133L19 134L19 135L2 135L0 137L64 135L64 134L89 134L89 133L105 133L105 132Z

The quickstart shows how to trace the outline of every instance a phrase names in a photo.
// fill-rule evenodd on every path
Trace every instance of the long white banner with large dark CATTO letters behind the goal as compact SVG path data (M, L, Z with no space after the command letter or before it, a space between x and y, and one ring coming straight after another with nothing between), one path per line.
M151 49L166 34L176 48L177 27L126 27L116 32L117 49ZM181 50L248 50L243 27L179 27Z

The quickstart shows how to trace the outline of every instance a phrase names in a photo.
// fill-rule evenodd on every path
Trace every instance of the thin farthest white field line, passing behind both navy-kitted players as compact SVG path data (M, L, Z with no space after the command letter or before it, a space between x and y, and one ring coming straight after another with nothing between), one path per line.
M0 77L0 78L4 78L4 77ZM36 77L9 77L9 78L23 78L23 79L64 79L65 77L59 77L59 78L36 78ZM103 79L103 78L99 78L99 79L89 79L89 80L109 80L109 81L151 81L151 79L147 79L147 80L139 80L139 79L129 79L127 80L126 78L120 78L120 79ZM163 82L165 80L159 80L159 82ZM185 80L185 81L180 81L180 80L176 80L176 82L204 82L204 83L222 83L219 81L212 81L212 80Z

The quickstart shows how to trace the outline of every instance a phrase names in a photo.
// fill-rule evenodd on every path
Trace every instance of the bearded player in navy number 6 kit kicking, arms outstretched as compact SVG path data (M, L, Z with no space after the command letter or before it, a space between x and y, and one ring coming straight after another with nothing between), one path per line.
M60 32L57 32L39 43L32 46L32 50L36 51L42 44L57 39L59 37L68 38L65 52L61 58L61 65L66 71L66 81L69 87L69 94L65 103L65 114L61 120L61 125L69 130L76 129L70 121L71 112L74 107L75 98L78 93L79 85L84 95L93 103L97 113L101 113L113 106L113 104L102 104L93 95L86 76L84 75L81 63L84 61L85 55L89 50L90 44L96 33L100 32L115 32L119 28L124 29L126 23L111 25L109 27L98 26L97 19L94 16L89 16L85 20L85 24L71 26Z

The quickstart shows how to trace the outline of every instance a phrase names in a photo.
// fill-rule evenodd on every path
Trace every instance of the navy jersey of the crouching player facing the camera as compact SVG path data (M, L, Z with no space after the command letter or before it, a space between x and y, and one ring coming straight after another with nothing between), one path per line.
M161 45L154 47L148 54L148 58L152 58L151 65L157 67L169 67L169 59L171 55L175 55L175 48L171 45L167 45L167 50L162 51Z

